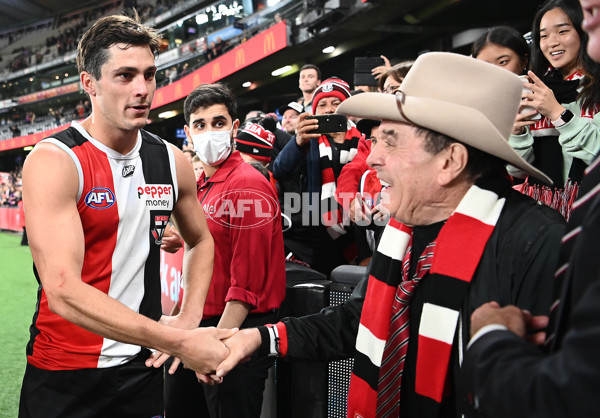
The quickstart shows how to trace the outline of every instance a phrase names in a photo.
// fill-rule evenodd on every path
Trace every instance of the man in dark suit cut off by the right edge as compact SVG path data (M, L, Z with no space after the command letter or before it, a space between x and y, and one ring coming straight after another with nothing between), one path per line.
M587 51L600 61L598 0L582 0ZM584 45L585 40L582 40ZM461 393L468 416L592 417L600 410L600 157L589 165L562 239L543 352L524 338L544 325L520 307L487 303L473 313ZM544 334L534 334L539 341ZM528 338L531 340L531 338ZM535 342L535 341L534 341Z

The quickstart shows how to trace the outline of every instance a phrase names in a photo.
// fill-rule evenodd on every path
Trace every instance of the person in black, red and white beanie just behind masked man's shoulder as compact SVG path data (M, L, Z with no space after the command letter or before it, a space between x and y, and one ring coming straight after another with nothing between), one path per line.
M258 123L247 123L235 138L235 148L240 152L240 156L244 161L258 163L267 170L267 165L271 162L274 142L275 135L272 132ZM273 177L273 173L268 170L267 173L271 186L277 192L277 182Z

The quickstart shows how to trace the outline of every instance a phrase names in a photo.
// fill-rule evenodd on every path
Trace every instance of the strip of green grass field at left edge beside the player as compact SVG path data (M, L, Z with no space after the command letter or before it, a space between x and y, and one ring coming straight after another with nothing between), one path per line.
M21 235L0 232L0 418L17 416L37 283Z

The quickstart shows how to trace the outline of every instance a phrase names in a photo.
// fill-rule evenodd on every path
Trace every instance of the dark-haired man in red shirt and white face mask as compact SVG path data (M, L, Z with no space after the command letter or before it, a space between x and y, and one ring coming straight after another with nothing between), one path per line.
M201 327L246 328L272 323L285 296L277 195L265 177L234 150L239 126L236 113L233 93L220 83L200 85L184 102L184 130L204 168L197 196L215 242ZM242 132L238 147L267 158L272 134L259 128L251 125ZM272 364L272 359L253 359L220 386L203 386L193 371L170 367L165 378L166 415L202 416L197 398L204 389L210 416L258 418Z

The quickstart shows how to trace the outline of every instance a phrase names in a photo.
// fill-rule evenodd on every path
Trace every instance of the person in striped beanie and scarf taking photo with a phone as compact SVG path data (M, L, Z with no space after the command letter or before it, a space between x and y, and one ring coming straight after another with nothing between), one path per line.
M337 77L329 78L315 90L312 112L331 115L348 97L348 83ZM286 247L313 269L328 275L352 258L348 248L353 237L342 224L335 189L342 168L356 155L362 134L354 126L331 134L311 133L318 123L309 117L308 113L298 117L296 135L277 155L273 175L280 182L297 179L302 192L300 199L291 200L294 207L284 204L286 215L301 212L305 221L301 225L294 222L286 232Z

